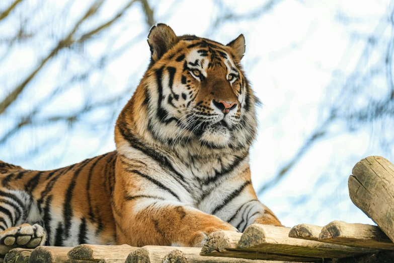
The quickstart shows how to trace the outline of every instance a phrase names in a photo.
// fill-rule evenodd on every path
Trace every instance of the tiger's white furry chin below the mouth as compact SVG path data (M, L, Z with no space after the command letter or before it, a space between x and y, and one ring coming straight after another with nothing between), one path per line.
M228 128L222 125L212 125L207 127L200 137L202 143L212 146L224 147L230 143L231 134Z

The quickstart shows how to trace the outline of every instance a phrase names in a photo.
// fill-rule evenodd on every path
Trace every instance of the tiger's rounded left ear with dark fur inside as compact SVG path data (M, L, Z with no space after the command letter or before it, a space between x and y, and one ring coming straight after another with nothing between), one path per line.
M157 24L149 31L148 44L153 61L159 60L176 43L178 43L177 35L166 24Z

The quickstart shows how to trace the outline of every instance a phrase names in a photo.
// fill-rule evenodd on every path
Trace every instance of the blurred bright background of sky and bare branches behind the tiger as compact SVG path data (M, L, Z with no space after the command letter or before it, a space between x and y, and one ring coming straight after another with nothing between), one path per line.
M347 180L366 156L394 161L393 12L384 0L2 0L0 160L53 169L113 151L152 25L223 44L243 33L263 102L259 199L286 226L371 224Z

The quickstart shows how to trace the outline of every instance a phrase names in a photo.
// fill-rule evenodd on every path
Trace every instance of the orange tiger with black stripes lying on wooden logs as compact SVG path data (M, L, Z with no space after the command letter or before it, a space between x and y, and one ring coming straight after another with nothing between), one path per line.
M0 162L0 254L78 244L201 247L216 231L282 226L257 198L259 99L226 45L157 24L150 62L115 124L116 150L33 171Z

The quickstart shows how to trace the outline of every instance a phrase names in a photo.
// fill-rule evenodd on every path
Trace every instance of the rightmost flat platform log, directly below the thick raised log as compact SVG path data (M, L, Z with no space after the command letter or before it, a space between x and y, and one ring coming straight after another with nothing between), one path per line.
M394 250L394 243L377 226L348 224L342 221L334 221L323 227L319 235L319 241Z

